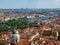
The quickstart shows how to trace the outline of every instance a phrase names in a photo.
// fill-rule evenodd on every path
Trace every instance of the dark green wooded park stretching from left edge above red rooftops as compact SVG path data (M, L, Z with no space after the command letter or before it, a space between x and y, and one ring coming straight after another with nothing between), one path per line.
M14 29L23 30L33 26L34 26L34 23L30 23L29 19L27 18L12 19L12 20L6 21L5 25L3 24L0 26L0 33L5 31L12 31Z

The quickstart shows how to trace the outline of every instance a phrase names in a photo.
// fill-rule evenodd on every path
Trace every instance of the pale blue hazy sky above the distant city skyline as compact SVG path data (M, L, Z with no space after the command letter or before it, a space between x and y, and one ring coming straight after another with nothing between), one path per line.
M60 0L0 0L0 8L60 8Z

